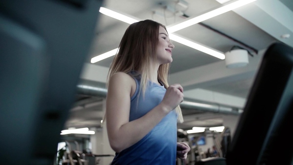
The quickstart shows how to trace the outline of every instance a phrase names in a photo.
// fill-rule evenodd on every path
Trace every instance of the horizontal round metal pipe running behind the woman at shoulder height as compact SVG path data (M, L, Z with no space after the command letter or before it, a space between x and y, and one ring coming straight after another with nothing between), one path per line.
M107 89L103 82L94 82L89 80L82 80L77 85L78 94L88 96L106 97ZM184 101L180 103L180 107L184 109L195 109L201 111L208 111L214 113L223 113L231 115L240 115L239 108L221 105L217 103L208 103L202 101L196 101L188 98L184 98Z

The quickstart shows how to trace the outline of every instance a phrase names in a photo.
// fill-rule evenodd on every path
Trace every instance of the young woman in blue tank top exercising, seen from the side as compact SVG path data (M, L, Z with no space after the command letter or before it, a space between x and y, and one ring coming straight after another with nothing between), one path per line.
M190 147L177 143L183 122L180 84L168 85L172 49L166 27L145 20L131 24L108 73L106 127L116 156L112 165L175 165Z

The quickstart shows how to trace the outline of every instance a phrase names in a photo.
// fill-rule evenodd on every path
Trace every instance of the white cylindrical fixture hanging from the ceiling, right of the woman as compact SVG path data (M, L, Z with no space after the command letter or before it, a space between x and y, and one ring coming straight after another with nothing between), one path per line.
M248 65L248 51L245 49L234 49L225 53L227 68L237 68Z

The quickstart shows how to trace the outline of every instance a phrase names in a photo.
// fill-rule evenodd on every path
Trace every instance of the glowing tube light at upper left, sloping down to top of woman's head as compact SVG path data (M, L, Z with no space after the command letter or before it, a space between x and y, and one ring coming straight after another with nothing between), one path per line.
M138 22L138 20L127 17L127 16L120 14L120 13L117 13L115 11L109 10L105 7L100 7L99 11L100 11L100 13L105 14L106 16L112 17L112 18L120 20L120 21L124 21L129 24L132 24L134 22Z

